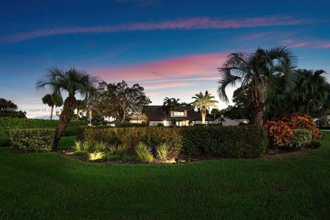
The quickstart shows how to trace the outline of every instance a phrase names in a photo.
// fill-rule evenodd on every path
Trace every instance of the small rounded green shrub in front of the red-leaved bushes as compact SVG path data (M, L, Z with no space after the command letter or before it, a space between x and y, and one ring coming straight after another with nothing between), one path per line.
M289 147L300 150L311 144L313 133L307 129L293 129Z

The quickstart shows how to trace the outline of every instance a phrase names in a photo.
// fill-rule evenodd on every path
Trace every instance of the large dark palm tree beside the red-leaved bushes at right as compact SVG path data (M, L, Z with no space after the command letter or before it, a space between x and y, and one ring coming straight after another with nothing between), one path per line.
M295 85L296 56L284 46L273 47L270 50L258 48L252 54L234 52L219 68L221 80L218 81L219 97L228 102L225 89L228 85L248 87L248 96L252 107L252 124L263 124L265 97L272 93L271 84L276 74L285 76L285 90L289 91Z

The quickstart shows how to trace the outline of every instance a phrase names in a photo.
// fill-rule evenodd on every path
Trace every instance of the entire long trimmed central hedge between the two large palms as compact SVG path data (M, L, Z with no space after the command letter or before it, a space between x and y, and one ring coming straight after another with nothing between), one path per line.
M268 144L263 126L186 126L83 129L78 140L126 144L144 142L153 148L166 143L174 153L223 157L258 157Z

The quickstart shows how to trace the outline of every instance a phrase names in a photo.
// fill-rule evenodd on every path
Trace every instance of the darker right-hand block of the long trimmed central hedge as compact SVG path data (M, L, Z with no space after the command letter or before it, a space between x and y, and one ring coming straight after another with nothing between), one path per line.
M268 143L263 126L188 126L181 132L188 155L259 157Z

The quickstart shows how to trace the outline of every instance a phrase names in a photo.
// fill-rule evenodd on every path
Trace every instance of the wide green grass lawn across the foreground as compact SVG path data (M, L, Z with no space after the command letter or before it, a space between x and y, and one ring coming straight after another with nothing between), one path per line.
M321 142L283 159L178 165L98 164L0 148L0 218L328 219L330 133Z

